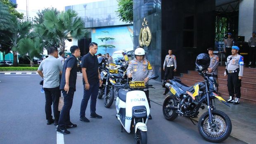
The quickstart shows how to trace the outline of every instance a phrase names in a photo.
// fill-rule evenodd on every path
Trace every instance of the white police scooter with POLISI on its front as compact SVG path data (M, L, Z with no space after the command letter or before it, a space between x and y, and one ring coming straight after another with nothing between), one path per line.
M152 76L156 79L158 76ZM148 88L154 88L144 82L129 82L115 85L118 94L116 97L116 118L126 132L134 132L136 144L147 144L147 122L149 118L149 104L145 92Z

